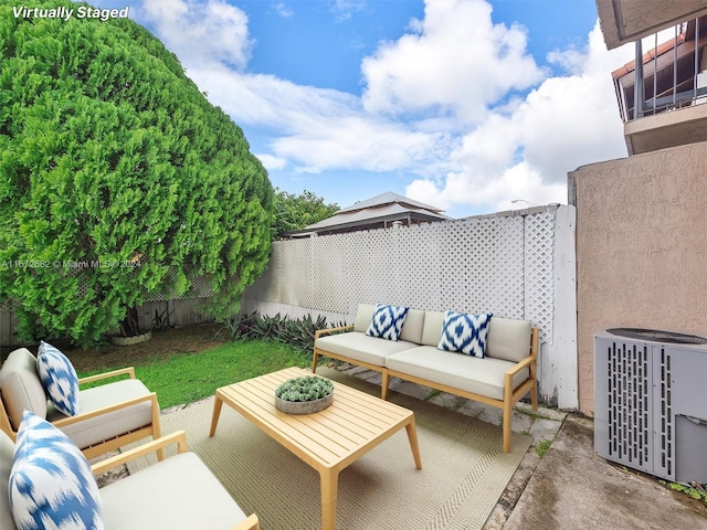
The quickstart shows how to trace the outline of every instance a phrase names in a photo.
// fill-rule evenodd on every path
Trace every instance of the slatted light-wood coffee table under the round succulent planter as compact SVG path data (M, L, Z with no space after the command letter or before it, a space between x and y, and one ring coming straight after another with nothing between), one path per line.
M319 471L321 528L336 528L339 473L405 427L415 467L422 469L412 411L334 381L334 403L321 412L291 415L275 409L275 389L292 378L312 375L288 368L217 390L209 436L217 432L225 403Z

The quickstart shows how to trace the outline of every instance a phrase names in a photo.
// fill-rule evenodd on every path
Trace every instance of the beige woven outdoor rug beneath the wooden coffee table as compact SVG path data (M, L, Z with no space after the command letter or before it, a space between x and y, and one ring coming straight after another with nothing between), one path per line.
M339 372L317 373L379 395L380 386ZM513 435L503 453L500 427L397 392L390 401L415 414L422 469L405 430L339 475L338 530L481 529L530 446ZM213 400L163 414L162 433L183 430L197 453L263 530L321 528L319 474L229 406L209 437ZM167 452L167 454L171 454ZM157 462L144 458L130 473Z

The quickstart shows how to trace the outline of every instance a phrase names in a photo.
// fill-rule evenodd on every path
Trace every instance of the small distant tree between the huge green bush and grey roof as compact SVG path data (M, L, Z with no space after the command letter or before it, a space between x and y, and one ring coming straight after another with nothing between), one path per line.
M273 222L273 239L281 239L285 232L300 230L330 218L339 211L336 203L325 204L324 199L305 190L295 195L275 189L275 218Z

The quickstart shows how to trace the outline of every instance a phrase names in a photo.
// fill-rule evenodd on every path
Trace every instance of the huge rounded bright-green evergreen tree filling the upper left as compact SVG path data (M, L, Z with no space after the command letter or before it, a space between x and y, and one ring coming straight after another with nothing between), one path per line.
M0 303L20 304L22 335L92 342L198 276L231 316L271 246L274 193L249 149L135 22L0 6Z

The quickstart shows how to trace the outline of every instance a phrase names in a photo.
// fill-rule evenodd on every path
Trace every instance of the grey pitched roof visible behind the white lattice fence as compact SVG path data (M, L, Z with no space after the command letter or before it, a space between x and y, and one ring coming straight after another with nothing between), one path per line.
M381 193L365 201L358 201L344 208L333 216L302 230L288 232L291 237L303 237L314 234L335 234L373 230L402 225L447 221L452 218L443 215L442 209L424 204L393 192Z

